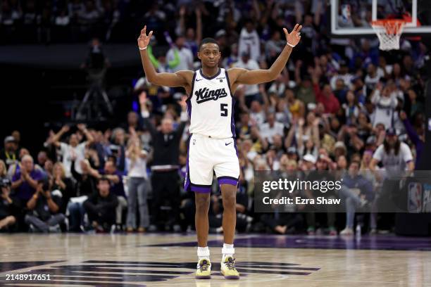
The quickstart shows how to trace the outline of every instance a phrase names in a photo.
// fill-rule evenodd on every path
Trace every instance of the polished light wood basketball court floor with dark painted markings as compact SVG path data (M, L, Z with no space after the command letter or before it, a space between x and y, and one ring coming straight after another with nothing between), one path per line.
M242 277L235 281L219 274L222 236L208 241L212 279L194 279L195 238L1 235L0 286L431 286L429 237L238 235L235 257ZM49 274L50 280L30 281L30 274Z

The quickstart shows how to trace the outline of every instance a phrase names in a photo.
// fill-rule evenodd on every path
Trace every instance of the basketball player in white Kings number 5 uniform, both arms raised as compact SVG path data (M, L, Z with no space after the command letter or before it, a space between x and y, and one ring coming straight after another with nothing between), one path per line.
M220 272L227 279L239 279L235 269L233 241L236 224L236 194L239 160L235 143L233 92L240 84L261 84L275 80L289 59L292 48L301 39L302 26L296 24L292 32L285 32L287 44L268 70L218 68L220 49L212 38L203 39L197 56L202 68L197 71L180 70L157 73L146 50L153 31L146 34L146 26L137 42L146 79L157 86L183 87L187 98L191 134L187 153L185 189L195 193L196 233L199 257L196 279L211 277L208 241L208 209L213 172L218 179L223 198L222 262Z

